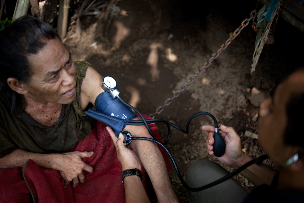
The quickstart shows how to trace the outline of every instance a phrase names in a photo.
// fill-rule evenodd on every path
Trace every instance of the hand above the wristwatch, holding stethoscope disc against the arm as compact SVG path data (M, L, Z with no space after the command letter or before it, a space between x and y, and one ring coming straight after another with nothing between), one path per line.
M118 139L112 128L107 126L107 130L114 142L117 157L121 164L122 170L124 171L132 168L137 168L141 170L141 162L137 154L134 152L133 149L129 148L129 146L125 147L125 145L123 144L124 135L120 133Z

